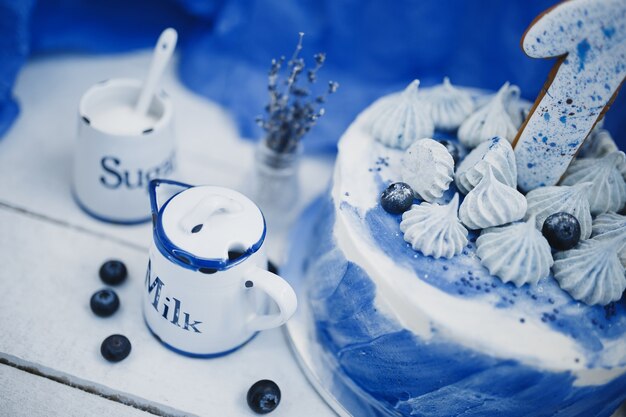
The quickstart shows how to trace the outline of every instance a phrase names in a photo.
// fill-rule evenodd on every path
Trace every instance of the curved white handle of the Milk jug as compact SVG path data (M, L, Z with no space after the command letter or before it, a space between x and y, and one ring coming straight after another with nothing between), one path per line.
M246 276L244 285L247 289L259 288L278 306L278 313L253 316L248 321L248 329L267 330L285 324L298 307L298 299L293 288L278 275L256 266Z

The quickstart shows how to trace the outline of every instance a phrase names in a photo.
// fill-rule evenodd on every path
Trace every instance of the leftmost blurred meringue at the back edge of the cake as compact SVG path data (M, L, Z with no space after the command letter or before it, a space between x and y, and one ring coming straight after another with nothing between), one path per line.
M376 103L369 112L369 128L376 140L392 148L406 149L417 139L432 137L435 126L430 106L418 93L415 80L401 93Z

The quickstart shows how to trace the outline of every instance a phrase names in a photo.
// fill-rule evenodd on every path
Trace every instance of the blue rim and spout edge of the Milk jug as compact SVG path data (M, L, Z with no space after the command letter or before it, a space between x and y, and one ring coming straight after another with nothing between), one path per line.
M165 204L163 204L163 206L159 208L156 200L156 189L161 184L174 185L177 187L181 187L182 190L171 196L165 202ZM169 202L172 201L175 196L189 188L192 188L192 186L178 181L165 179L153 179L150 181L149 191L150 206L152 207L152 229L154 234L154 242L156 247L159 249L159 252L161 252L163 256L165 256L171 262L182 266L183 268L199 271L205 274L212 274L218 271L224 271L226 269L232 268L233 266L243 262L244 260L252 256L261 248L263 242L265 241L265 235L267 232L267 226L265 223L265 216L263 216L263 212L261 212L261 217L263 218L263 233L261 234L261 237L256 243L246 249L240 256L235 259L200 258L176 246L167 237L167 234L163 229L163 212L167 208Z

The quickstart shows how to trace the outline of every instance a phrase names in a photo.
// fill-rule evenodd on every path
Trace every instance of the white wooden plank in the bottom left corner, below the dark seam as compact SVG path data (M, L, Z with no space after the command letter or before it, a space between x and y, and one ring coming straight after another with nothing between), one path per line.
M11 417L150 417L153 414L0 365L0 413Z

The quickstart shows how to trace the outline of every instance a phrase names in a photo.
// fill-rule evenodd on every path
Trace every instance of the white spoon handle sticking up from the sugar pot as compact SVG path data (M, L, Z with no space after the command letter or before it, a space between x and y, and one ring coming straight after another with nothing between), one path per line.
M165 29L161 33L161 36L159 36L159 40L154 47L154 54L152 55L152 63L150 64L148 76L144 81L141 92L139 93L139 99L135 105L136 113L142 115L146 114L157 85L159 84L161 76L165 70L165 66L174 53L177 40L178 33L172 28Z

